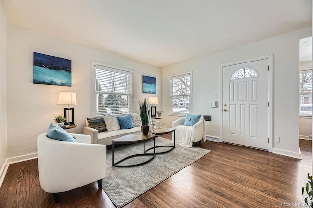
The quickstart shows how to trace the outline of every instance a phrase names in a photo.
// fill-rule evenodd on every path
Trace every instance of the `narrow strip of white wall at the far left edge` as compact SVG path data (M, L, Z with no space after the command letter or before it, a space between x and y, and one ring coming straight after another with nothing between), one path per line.
M6 18L0 3L0 169L6 155ZM0 173L1 174L1 173Z

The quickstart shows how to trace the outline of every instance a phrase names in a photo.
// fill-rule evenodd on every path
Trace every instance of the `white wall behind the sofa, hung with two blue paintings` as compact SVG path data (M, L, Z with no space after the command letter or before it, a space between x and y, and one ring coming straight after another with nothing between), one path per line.
M127 46L125 46L127 47ZM33 52L72 60L72 87L33 84ZM158 96L161 68L110 52L70 42L40 31L8 23L7 26L7 157L37 152L37 136L46 132L66 106L56 105L60 91L77 92L75 123L79 133L92 116L91 62L134 70L134 104L138 98ZM142 93L142 75L156 77L157 94ZM71 129L73 130L73 129Z

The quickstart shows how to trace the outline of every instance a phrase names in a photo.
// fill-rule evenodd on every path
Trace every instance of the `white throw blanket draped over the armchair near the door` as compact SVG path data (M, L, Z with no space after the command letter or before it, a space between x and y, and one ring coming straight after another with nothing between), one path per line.
M174 140L172 138L172 143ZM180 146L192 147L192 126L178 125L175 127L175 143Z

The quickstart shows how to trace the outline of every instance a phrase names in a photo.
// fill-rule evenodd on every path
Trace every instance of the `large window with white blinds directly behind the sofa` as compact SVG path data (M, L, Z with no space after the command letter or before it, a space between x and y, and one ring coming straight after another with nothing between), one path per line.
M95 115L131 113L133 72L94 65Z

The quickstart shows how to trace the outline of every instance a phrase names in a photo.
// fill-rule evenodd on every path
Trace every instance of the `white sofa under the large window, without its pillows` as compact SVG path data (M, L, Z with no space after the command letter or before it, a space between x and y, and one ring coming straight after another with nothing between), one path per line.
M120 116L125 116L128 114L123 114ZM119 115L117 115L119 116ZM140 121L141 122L141 121ZM106 124L108 125L108 124ZM130 128L130 129L119 129L116 131L104 131L104 132L100 132L94 128L90 128L88 121L86 119L86 126L83 129L83 133L84 134L88 134L91 137L91 143L94 144L103 144L103 145L112 145L112 139L121 137L121 136L125 136L128 134L134 134L134 133L141 133L141 126L137 126L134 128Z

